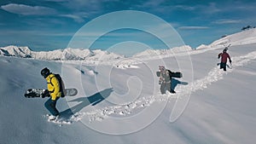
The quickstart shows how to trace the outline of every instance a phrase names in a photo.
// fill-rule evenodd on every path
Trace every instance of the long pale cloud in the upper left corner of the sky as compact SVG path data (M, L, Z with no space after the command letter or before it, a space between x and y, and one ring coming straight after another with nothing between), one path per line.
M9 13L22 14L22 15L49 15L55 14L55 9L41 7L41 6L29 6L24 4L9 3L1 6L1 9L8 11Z

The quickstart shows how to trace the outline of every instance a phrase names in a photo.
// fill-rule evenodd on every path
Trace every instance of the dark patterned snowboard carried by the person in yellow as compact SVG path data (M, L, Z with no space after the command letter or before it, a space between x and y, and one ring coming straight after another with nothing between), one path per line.
M64 89L65 96L74 96L78 94L78 89ZM49 91L47 89L27 89L24 96L26 98L33 98L33 97L49 97Z

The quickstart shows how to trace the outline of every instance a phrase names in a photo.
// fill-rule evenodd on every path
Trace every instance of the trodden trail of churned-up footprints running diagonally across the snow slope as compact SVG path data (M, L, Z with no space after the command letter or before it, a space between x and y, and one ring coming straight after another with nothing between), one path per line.
M135 110L143 107L148 107L154 102L168 101L170 99L188 99L191 92L195 92L196 90L200 89L207 89L208 85L212 84L213 82L217 82L220 79L223 79L224 74L233 72L236 67L244 66L254 59L256 59L256 51L253 51L247 55L233 57L232 69L228 69L226 72L224 72L223 70L220 70L218 66L216 66L212 69L212 71L208 72L205 78L195 80L195 82L192 82L188 85L177 85L176 95L153 95L151 97L142 97L137 101L132 101L131 103L123 106L119 105L113 107L104 107L90 112L76 112L71 120L79 121L84 116L87 116L90 122L102 121L104 118L108 118L110 115L131 115L131 113Z

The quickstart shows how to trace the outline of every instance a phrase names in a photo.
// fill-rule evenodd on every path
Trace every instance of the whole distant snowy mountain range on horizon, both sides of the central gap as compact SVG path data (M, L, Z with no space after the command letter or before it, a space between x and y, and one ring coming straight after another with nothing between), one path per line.
M191 50L187 45L172 48L172 49L147 49L141 53L133 55L132 57L142 57L148 55L166 55L172 52L178 53ZM33 58L38 60L86 60L86 61L99 61L99 60L118 60L124 59L124 55L118 55L103 51L101 49L56 49L52 51L32 51L28 47L18 47L10 45L0 48L0 55L2 56L15 56L20 58Z

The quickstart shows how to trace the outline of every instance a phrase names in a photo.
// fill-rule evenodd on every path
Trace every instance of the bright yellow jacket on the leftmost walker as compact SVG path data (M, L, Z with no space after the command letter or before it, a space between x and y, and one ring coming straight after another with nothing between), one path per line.
M49 74L47 78L47 88L49 90L51 100L55 101L57 97L61 97L61 87L58 79L53 73Z

